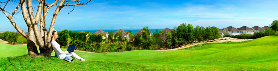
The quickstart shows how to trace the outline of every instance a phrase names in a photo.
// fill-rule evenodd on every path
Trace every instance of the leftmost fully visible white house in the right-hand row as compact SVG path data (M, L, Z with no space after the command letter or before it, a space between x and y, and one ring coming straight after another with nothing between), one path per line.
M238 30L238 29L236 29L232 26L229 26L229 27L224 28L222 30L227 31L229 35L240 35L240 33L239 33L240 30Z

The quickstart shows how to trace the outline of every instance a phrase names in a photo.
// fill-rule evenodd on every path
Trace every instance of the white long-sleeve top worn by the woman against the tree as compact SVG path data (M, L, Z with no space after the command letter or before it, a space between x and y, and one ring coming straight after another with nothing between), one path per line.
M66 57L66 54L64 51L61 50L61 46L59 43L57 43L56 41L51 42L51 46L55 52L55 57L58 57L60 59L64 59Z

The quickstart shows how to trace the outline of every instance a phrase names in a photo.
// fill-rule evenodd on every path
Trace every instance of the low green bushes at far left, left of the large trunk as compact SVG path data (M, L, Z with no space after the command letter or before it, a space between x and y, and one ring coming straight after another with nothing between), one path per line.
M10 44L23 44L27 43L27 40L20 34L16 32L3 32L0 33L0 39L8 41Z

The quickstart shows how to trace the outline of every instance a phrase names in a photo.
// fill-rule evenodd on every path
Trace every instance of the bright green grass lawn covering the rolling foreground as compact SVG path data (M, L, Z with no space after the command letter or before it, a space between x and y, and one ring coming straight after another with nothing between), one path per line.
M6 47L3 47L5 45ZM13 47L13 49L7 49ZM4 49L3 49L4 48ZM3 49L3 50L2 50ZM9 50L9 51L7 51ZM18 51L17 55L10 57ZM65 51L66 49L62 49ZM0 70L278 70L278 36L244 42L204 43L174 51L135 50L112 53L75 51L82 62L56 57L31 58L26 46L0 44ZM2 53L8 55L2 55ZM18 56L21 55L21 56ZM17 57L15 57L17 56ZM54 52L51 54L54 56ZM20 61L22 60L22 61Z

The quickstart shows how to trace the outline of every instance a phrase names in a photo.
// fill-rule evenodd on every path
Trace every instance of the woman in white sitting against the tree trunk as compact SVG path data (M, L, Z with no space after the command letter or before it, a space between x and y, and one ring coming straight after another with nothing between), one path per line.
M52 32L52 37L51 37L51 46L52 46L53 50L55 51L55 57L64 59L65 57L69 56L69 57L72 57L77 60L86 61L85 59L76 55L74 52L71 54L65 54L65 53L68 53L68 51L61 50L60 44L55 41L56 38L58 38L58 35L57 35L56 30L54 29Z

